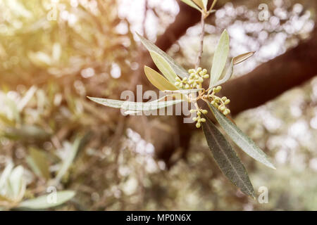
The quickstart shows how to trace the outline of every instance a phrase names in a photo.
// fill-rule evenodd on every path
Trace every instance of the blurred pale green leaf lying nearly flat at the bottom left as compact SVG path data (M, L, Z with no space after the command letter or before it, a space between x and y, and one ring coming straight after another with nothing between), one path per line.
M51 193L49 195L54 195ZM51 207L56 207L74 197L75 191L58 191L56 192L56 202L49 200L49 195L42 195L34 199L25 200L18 207L27 208L30 210L44 210Z

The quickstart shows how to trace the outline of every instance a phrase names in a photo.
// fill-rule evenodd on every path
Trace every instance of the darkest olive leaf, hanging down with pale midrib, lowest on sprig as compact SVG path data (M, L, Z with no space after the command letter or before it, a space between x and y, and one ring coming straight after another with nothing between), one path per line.
M204 116L205 117L205 116ZM206 141L221 171L241 191L254 197L254 188L251 184L244 165L237 157L230 143L225 139L217 127L207 118L202 123Z

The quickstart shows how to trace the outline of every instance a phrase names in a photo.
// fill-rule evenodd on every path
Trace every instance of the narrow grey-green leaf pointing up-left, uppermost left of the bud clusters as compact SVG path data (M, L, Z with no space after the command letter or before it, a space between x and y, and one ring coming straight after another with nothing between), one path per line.
M159 49L158 46L156 46L151 41L149 41L148 39L142 37L139 34L137 34L137 36L139 37L139 39L141 40L142 44L147 48L148 51L154 51L155 53L157 53L160 56L162 56L164 58L164 60L166 60L166 62L173 69L173 71L175 72L176 75L178 75L180 77L188 77L189 76L187 71L184 68L182 68L182 66L180 66L178 63L176 63L175 60L173 60L173 58L168 56L168 54L166 54L164 51Z

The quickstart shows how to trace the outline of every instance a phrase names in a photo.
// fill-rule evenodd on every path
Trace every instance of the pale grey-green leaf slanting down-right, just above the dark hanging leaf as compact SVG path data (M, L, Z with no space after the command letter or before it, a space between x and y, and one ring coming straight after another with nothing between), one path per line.
M270 162L266 153L263 153L261 148L256 146L256 143L252 141L246 134L244 134L233 122L228 120L227 117L220 113L213 105L209 103L209 107L215 115L216 120L219 122L221 127L225 130L225 133L230 136L232 141L234 141L237 146L239 146L245 153L254 158L255 160L262 162L267 167L275 169L272 162Z

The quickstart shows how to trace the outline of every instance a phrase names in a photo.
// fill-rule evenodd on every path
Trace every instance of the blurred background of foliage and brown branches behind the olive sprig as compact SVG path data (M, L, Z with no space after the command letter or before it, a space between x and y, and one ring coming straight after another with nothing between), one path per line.
M224 86L238 127L277 167L237 148L256 200L221 174L201 130L182 117L124 117L86 98L120 99L137 84L155 90L135 32L193 67L199 13L175 0L0 0L0 172L9 162L25 168L25 198L52 180L76 191L54 210L317 210L316 1L219 0L216 9L202 67L223 29L230 56L256 51ZM48 174L32 166L36 153Z

